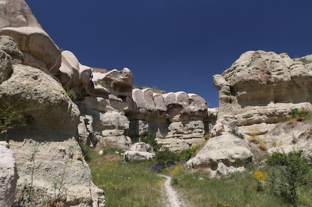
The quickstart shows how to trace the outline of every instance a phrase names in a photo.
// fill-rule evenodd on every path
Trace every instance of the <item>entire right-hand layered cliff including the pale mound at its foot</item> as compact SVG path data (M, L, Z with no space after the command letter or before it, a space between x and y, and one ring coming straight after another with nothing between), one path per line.
M188 166L224 175L244 170L254 153L293 148L312 162L310 124L286 122L291 109L311 110L311 71L312 55L292 60L286 53L248 51L230 69L214 75L219 91L214 138Z

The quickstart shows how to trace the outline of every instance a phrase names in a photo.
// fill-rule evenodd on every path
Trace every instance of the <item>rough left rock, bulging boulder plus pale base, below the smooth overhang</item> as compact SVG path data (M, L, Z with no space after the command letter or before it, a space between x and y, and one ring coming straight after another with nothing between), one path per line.
M61 185L59 175L63 173L60 196L66 201L64 207L104 207L104 192L92 183L89 167L74 138L79 124L79 108L53 76L15 61L16 54L18 57L22 53L16 51L12 38L4 36L4 39L8 41L0 41L0 52L4 57L0 62L0 71L3 74L0 82L0 104L3 107L13 106L14 110L22 112L21 119L27 123L24 127L16 127L0 135L0 140L7 136L10 149L16 155L19 175L16 196L20 195L23 185L29 185L32 174L37 192L35 196L53 201L55 194L52 187ZM28 47L30 46L33 45L29 44ZM5 70L7 65L10 67L10 74ZM35 154L34 162L30 162L27 157L31 155L34 144L38 144L39 151ZM13 163L12 161L11 164ZM30 169L33 169L33 173ZM25 179L27 183L24 183ZM13 184L12 180L12 189ZM1 195L10 196L10 192L14 192L12 189L8 189L8 194Z

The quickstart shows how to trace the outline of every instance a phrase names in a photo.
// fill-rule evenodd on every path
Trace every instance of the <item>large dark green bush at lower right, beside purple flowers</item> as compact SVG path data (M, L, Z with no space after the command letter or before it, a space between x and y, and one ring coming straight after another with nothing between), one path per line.
M275 195L280 195L294 206L298 206L297 188L307 185L307 174L311 171L306 158L295 150L288 153L274 152L268 156L267 164L272 167L270 173L270 189Z

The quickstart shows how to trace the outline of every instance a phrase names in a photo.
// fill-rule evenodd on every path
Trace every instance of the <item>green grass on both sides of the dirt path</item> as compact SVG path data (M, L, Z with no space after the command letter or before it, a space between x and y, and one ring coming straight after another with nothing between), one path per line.
M165 195L161 193L164 192L164 178L149 171L156 160L124 162L114 150L104 149L107 152L104 156L89 151L93 182L104 190L106 206L166 207ZM171 184L188 207L224 207L227 204L229 207L293 207L282 197L271 194L271 168L267 165L250 164L244 172L219 178L209 178L204 170L190 173L182 166L177 163L161 173L171 176L174 181ZM256 171L267 174L264 182L252 176ZM312 180L312 176L309 179ZM257 184L261 185L260 191ZM298 194L298 207L312 207L312 182L300 187Z

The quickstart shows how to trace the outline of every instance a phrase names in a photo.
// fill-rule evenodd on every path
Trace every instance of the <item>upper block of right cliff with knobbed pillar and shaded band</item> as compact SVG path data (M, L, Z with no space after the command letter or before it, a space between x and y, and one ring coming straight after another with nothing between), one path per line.
M249 51L213 76L219 91L218 120L238 126L285 121L291 107L311 106L311 57ZM299 61L301 60L301 61Z

